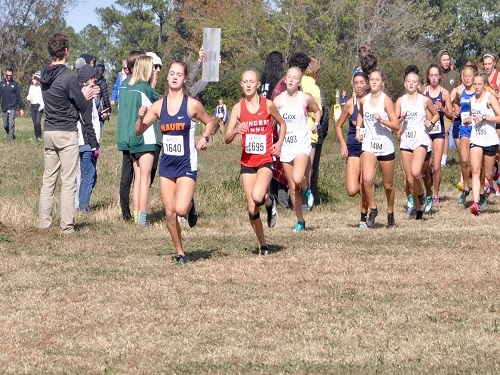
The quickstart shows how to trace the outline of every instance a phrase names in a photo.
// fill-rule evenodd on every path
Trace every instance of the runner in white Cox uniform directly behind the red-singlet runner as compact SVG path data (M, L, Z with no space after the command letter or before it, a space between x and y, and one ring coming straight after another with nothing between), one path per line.
M313 112L315 118L321 117L321 111L314 99L299 91L302 71L297 67L288 69L286 74L286 91L274 99L281 117L286 122L286 135L281 148L280 161L283 164L285 175L290 188L290 199L297 216L297 225L294 232L306 229L306 222L302 212L301 190L307 190L306 171L311 153L311 139L307 131L307 113ZM317 132L313 125L311 132Z

